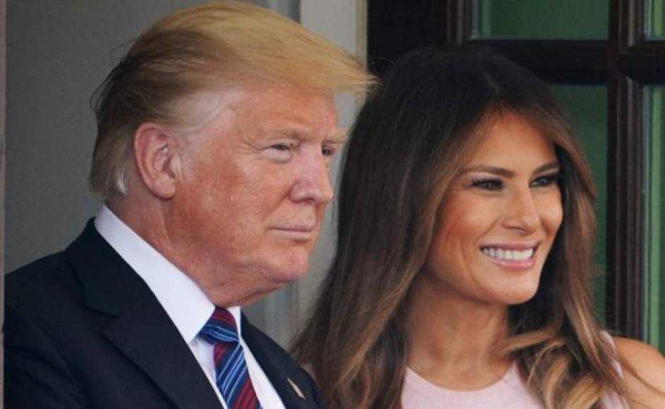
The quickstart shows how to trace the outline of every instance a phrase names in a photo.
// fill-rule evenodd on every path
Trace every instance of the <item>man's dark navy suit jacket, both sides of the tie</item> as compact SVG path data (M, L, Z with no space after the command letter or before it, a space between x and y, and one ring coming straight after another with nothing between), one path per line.
M157 298L92 220L65 251L8 274L5 300L5 409L222 408ZM284 406L322 408L307 372L245 317L242 327Z

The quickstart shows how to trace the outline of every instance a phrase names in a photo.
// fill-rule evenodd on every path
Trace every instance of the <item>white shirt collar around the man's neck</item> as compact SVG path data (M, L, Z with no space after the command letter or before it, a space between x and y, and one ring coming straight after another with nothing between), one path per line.
M150 287L187 343L193 341L214 311L205 293L166 257L103 206L94 227ZM240 307L227 308L240 331Z

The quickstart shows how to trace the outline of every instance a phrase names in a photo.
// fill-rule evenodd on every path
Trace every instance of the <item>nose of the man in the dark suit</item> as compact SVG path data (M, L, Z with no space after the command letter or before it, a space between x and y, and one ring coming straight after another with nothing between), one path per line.
M298 169L295 185L291 189L291 200L326 204L332 200L333 195L326 158L321 154L305 161Z

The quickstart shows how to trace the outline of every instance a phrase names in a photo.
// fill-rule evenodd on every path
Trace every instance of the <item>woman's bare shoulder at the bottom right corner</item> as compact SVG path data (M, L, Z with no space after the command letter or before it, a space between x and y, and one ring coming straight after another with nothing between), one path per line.
M665 358L647 343L612 337L635 408L665 408ZM646 405L640 406L639 403ZM655 404L655 406L654 406Z

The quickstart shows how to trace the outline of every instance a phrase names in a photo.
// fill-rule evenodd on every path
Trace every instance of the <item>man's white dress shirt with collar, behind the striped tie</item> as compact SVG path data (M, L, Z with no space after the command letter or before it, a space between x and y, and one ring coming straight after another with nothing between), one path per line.
M99 210L97 217L94 219L94 227L150 287L150 290L159 300L161 306L164 307L166 314L171 317L171 321L176 325L181 336L192 350L210 384L212 384L219 401L227 409L226 402L224 402L224 398L219 393L214 381L215 367L212 358L212 344L198 336L199 331L212 316L214 304L208 300L203 291L183 271L180 271L169 260L166 260L163 255L140 238L106 206ZM230 307L228 311L236 319L236 326L241 334L240 307ZM250 379L252 379L252 385L262 408L283 409L284 405L279 395L240 334L238 336L245 353L245 362L247 362Z

